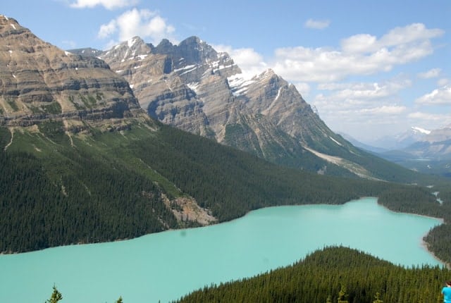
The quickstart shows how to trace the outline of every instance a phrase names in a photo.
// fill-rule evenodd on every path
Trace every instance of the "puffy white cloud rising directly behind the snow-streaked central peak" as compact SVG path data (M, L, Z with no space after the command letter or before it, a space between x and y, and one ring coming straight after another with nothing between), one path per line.
M133 8L109 23L101 25L97 37L111 39L114 36L117 37L118 42L123 42L140 36L142 39L151 39L152 43L159 43L163 38L173 40L174 31L175 28L166 23L166 20L157 13L147 9Z

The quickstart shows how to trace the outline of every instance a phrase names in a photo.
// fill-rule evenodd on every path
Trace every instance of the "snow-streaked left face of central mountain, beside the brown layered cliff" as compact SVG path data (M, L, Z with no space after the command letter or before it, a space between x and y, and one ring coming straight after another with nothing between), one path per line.
M162 44L164 46L164 42ZM100 58L130 82L142 108L150 116L189 132L208 135L203 102L177 73L173 73L176 66L173 59L152 49L152 45L135 37L104 52Z

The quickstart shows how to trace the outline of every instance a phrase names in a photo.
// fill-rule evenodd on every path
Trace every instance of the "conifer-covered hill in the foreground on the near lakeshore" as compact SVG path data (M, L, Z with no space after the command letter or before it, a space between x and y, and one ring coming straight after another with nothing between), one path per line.
M450 275L440 266L404 268L355 249L328 247L292 266L204 287L177 302L373 303L376 296L387 303L443 302L440 291Z

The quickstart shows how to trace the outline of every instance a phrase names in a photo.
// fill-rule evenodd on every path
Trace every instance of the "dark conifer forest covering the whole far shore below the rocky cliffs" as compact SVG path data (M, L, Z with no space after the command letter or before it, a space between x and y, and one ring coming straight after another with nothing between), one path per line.
M440 204L421 187L281 167L165 125L154 132L139 125L123 132L92 130L88 138L73 135L74 146L61 123L39 128L45 136L15 134L0 152L0 252L180 227L161 194L189 194L219 221L264 206L340 204L364 196L381 197L396 211L450 214L437 209ZM10 132L0 128L0 146L10 140ZM437 234L436 247L442 239Z

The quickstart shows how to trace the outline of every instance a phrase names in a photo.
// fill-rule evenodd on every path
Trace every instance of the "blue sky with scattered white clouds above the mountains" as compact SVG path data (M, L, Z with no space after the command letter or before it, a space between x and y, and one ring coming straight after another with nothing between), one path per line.
M0 13L62 49L198 36L247 76L273 68L364 142L451 125L449 0L17 0Z

